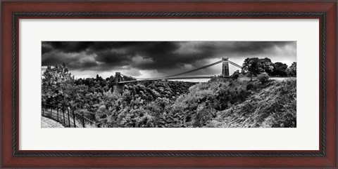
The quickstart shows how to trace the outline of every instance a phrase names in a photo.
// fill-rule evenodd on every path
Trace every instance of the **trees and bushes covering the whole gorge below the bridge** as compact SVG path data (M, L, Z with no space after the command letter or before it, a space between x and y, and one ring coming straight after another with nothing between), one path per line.
M242 81L237 71L206 83L126 83L123 93L113 91L114 76L75 79L56 65L43 74L42 104L73 109L99 127L296 127L296 80L269 79L276 72L296 76L296 62L248 58L244 65L256 80Z

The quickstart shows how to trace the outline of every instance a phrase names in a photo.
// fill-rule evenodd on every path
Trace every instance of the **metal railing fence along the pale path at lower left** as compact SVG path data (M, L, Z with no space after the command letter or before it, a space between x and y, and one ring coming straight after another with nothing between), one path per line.
M51 104L42 104L42 116L58 121L67 128L96 128L98 125L84 116L78 114L70 107L60 107Z

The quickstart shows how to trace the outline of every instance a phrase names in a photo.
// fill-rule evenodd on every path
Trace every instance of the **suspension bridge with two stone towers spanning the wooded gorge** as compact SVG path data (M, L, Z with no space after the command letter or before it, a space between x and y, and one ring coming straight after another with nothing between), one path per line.
M221 65L221 72L215 71L215 69L210 69L211 67L214 67L216 65ZM230 77L229 72L229 64L234 65L234 67L238 67L242 69L242 66L232 62L229 60L229 58L222 58L222 60L219 60L217 62L213 62L209 65L205 65L203 67L199 67L196 69L192 69L186 72L181 72L178 74L172 74L170 76L162 76L162 77L155 77L155 78L137 78L133 76L128 76L125 74L121 74L120 72L115 72L115 77L109 81L109 83L113 83L113 90L121 93L123 91L123 86L125 83L133 83L133 82L139 82L139 81L161 81L161 80L180 80L180 79L211 79L215 75L220 75L222 77ZM219 68L216 68L219 70ZM204 71L205 70L205 71ZM211 72L206 72L210 71ZM199 75L199 71L204 71L204 74L208 75ZM194 75L192 75L194 74ZM123 80L123 77L127 77L131 80Z

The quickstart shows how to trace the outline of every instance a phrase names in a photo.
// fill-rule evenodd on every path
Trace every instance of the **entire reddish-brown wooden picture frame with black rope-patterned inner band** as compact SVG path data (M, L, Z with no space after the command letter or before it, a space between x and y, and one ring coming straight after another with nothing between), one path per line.
M337 167L337 1L3 1L1 6L1 167ZM21 18L318 18L320 150L19 150L18 20Z

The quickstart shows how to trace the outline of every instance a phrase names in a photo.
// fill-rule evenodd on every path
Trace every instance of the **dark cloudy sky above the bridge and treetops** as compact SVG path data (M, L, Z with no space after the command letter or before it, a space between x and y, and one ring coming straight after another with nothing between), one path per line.
M62 64L75 78L106 78L121 72L135 77L158 77L189 71L230 58L242 65L245 58L296 62L296 41L43 41L42 71ZM213 69L213 71L212 71ZM215 73L221 65L196 74ZM230 72L237 70L230 67Z

